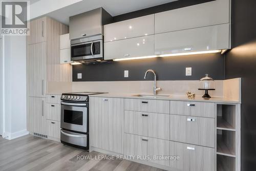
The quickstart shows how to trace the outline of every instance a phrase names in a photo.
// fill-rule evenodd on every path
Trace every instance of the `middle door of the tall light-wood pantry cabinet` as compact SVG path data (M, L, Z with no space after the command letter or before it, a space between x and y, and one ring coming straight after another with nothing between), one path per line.
M27 90L32 97L45 97L46 42L27 46Z

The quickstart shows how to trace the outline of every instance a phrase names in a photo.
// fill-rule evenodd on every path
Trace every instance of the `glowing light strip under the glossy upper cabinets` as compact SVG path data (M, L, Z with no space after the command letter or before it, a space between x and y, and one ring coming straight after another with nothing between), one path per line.
M140 56L140 57L120 58L120 59L113 59L113 60L114 60L114 61L121 61L121 60L146 59L146 58L155 58L155 57L169 57L169 56L197 55L197 54L207 54L207 53L220 53L220 52L221 52L221 50L200 51L200 52L185 52L185 53L174 53L174 54L164 54L164 55L153 55L153 56Z

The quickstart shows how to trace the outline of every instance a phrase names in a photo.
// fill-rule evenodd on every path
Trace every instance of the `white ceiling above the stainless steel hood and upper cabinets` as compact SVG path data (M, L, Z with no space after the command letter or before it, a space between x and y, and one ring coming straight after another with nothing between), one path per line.
M69 25L70 16L99 7L104 8L112 16L116 16L174 1L177 0L83 0L81 2L50 12L46 15L58 20L63 24Z

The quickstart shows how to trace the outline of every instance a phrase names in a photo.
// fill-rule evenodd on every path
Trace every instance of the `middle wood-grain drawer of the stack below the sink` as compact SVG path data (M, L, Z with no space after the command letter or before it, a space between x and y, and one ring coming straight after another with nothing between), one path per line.
M124 111L124 132L169 140L169 114Z

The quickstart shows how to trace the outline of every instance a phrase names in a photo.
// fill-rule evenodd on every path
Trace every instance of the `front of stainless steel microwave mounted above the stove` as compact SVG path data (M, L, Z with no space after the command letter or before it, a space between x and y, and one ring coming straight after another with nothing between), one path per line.
M102 58L102 40L71 45L71 60Z

